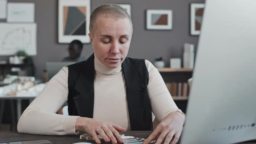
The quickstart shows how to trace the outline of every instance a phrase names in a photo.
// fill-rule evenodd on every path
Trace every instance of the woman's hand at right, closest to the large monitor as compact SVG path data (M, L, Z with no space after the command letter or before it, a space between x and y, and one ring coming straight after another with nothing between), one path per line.
M155 144L162 144L163 142L164 144L170 144L170 142L176 144L181 136L184 122L185 115L178 111L171 112L158 124L143 144L149 144L153 140L157 140Z

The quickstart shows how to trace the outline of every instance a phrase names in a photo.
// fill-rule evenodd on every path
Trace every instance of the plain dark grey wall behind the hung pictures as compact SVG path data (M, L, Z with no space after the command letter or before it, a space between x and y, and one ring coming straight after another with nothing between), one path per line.
M47 61L60 61L68 55L67 44L58 41L58 0L8 0L8 2L35 3L37 23L36 77L41 78ZM92 10L103 3L130 3L133 21L133 37L129 57L148 59L153 62L162 56L169 67L170 58L182 58L183 44L193 43L197 47L198 36L189 34L189 3L203 3L204 0L91 0ZM145 29L145 10L173 10L173 30L152 31ZM6 22L6 20L0 20ZM82 55L89 57L92 46L85 44ZM7 60L0 56L0 60Z

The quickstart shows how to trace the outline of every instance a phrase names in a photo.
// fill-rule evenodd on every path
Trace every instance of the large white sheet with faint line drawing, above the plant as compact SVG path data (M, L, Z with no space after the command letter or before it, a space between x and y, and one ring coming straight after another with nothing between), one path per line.
M0 23L0 56L24 50L36 55L36 23Z

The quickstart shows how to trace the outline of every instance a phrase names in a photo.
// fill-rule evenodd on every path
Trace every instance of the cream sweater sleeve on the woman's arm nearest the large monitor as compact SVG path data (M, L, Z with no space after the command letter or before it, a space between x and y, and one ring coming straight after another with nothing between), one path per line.
M148 69L148 95L151 102L151 107L156 118L161 121L172 111L179 111L185 115L175 104L168 91L161 74L154 65L145 60Z

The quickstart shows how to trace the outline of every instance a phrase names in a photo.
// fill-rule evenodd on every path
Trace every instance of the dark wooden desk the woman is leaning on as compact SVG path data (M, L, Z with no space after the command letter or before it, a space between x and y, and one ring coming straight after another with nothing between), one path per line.
M123 134L147 138L152 131L127 131ZM10 142L10 141L27 141L36 139L48 139L53 142L53 144L73 144L78 142L88 142L95 144L94 141L80 140L79 135L65 135L65 136L49 136L49 135L36 135L36 134L20 134L18 132L0 131L0 142ZM179 143L179 142L178 142ZM111 143L108 143L111 144ZM240 144L256 144L256 142L244 142Z

